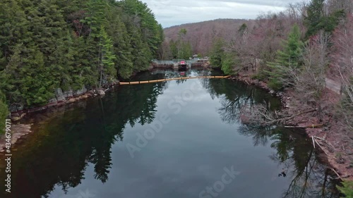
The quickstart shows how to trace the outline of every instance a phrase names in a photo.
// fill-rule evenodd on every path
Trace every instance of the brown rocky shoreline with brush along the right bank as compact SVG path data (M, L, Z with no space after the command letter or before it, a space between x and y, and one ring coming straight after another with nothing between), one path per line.
M274 96L278 97L281 102L282 102L282 108L287 109L287 111L292 112L291 114L294 114L294 111L304 111L304 109L300 109L300 107L293 105L292 106L292 101L294 100L294 93L286 90L285 92L275 92L273 89L270 89L268 85L265 82L262 82L260 80L255 80L251 78L251 75L246 75L246 74L239 74L237 76L232 76L232 80L237 80L241 82L245 82L248 85L254 85L256 87L260 87L261 89L267 90L270 94L273 94ZM336 94L328 91L329 93L326 94ZM335 101L337 102L337 101ZM328 113L325 113L325 122L329 122L332 118L333 112L332 109L328 111ZM290 125L304 125L304 126L309 126L313 125L316 123L318 120L316 118L313 118L315 116L311 115L310 113L301 115L300 118L295 118L294 120L291 120L289 122ZM337 149L338 147L342 146L344 144L343 141L339 140L337 141L335 139L335 125L331 125L330 127L325 127L325 128L305 128L306 134L309 137L316 137L319 138L325 142L326 144L319 144L317 143L319 147L316 147L316 149L319 149L319 152L323 155L324 160L328 163L328 166L330 169L337 175L336 179L346 179L346 180L353 180L353 149L347 146L345 149L345 154L342 155L342 152L340 152L340 149ZM335 140L335 141L334 141ZM313 140L314 141L314 140ZM334 142L333 144L330 144L330 142ZM314 143L315 144L315 143Z

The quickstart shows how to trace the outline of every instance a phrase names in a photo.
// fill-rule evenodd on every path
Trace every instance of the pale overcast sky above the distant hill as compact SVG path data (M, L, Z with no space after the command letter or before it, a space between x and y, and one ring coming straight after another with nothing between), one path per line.
M217 18L256 18L259 13L283 11L303 0L141 0L163 27Z

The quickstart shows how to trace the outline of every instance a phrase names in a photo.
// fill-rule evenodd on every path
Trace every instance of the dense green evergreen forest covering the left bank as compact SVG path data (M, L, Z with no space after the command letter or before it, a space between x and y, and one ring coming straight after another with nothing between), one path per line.
M0 109L102 87L148 68L162 26L138 0L0 1ZM3 97L4 95L4 97Z

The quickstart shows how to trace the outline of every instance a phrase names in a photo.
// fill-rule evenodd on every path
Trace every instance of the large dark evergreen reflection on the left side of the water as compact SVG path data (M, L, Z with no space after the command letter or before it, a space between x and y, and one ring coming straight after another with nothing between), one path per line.
M37 125L36 134L13 154L12 185L18 188L10 197L49 197L56 186L67 192L80 185L89 163L94 165L94 177L107 182L112 145L123 140L126 124L152 123L157 97L166 85L160 82L119 87L109 97L88 101L88 108L65 111L49 123ZM0 176L4 178L4 171ZM1 193L5 192L3 182Z

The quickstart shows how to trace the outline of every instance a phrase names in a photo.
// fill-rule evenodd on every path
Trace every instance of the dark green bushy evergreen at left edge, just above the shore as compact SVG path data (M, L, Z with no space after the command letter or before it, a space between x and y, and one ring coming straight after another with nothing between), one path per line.
M44 55L38 47L18 44L15 54L1 73L1 86L12 103L25 106L45 104L54 96L49 68L44 66Z

